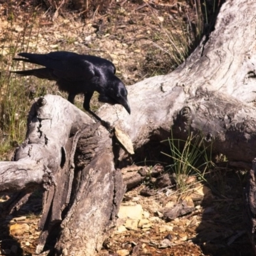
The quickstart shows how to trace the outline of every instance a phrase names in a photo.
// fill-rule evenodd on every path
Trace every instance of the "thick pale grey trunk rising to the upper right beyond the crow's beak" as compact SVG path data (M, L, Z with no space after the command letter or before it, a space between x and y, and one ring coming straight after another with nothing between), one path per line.
M239 10L239 12L237 12ZM129 86L131 113L102 107L135 148L170 135L200 132L230 161L255 157L256 2L226 1L215 29L180 67ZM242 149L243 148L243 149ZM241 154L243 150L243 154Z

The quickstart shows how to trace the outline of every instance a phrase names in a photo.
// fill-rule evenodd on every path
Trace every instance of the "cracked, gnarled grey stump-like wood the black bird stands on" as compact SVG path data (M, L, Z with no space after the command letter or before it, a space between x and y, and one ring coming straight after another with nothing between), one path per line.
M100 250L124 195L111 145L108 131L67 100L46 95L33 104L15 161L0 163L0 190L24 190L13 200L13 210L36 186L46 189L37 255L54 230L59 230L55 255Z

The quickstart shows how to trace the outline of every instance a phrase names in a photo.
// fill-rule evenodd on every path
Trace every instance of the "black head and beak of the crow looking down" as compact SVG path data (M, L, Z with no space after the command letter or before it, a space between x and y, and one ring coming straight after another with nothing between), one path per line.
M108 86L104 93L99 95L100 102L106 102L109 104L120 104L126 111L131 114L129 102L127 100L127 90L124 83L118 77L109 81Z

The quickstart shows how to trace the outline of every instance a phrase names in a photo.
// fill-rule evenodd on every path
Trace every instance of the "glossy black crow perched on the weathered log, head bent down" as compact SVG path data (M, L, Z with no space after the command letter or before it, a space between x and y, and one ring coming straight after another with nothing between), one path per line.
M44 68L13 71L14 73L56 81L60 90L68 93L68 101L72 104L76 95L83 93L84 109L97 120L102 121L90 110L90 100L95 91L99 92L100 102L120 104L129 114L131 113L127 90L124 83L115 76L116 68L111 61L97 56L65 51L48 54L21 52L18 55L24 58L13 58L13 60L34 63Z

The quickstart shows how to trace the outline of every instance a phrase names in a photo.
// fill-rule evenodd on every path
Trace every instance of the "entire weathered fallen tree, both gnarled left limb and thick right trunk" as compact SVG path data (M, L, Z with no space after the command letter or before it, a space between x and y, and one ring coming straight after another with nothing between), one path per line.
M166 140L172 128L177 138L200 134L233 164L250 166L256 155L255 13L255 0L227 1L214 31L177 70L129 86L131 116L107 105L99 115L129 135L135 154L150 141ZM0 164L0 191L47 189L36 253L58 227L55 255L95 255L115 225L124 193L116 163L129 159L126 146L57 96L39 99L28 124L15 162Z

